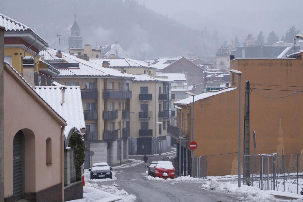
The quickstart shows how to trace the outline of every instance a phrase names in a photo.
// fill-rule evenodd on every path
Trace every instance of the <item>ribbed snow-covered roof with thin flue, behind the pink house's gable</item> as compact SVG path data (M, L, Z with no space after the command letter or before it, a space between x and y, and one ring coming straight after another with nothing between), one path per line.
M65 102L62 103L62 88L65 89ZM36 86L36 93L42 97L61 117L66 120L64 135L66 146L72 129L79 132L85 129L81 91L79 86Z

